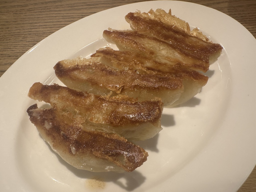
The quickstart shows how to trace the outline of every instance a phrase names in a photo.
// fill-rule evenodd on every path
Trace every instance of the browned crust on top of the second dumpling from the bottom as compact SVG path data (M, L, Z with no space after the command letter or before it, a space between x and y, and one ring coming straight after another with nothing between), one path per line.
M160 99L135 102L127 97L103 98L86 92L75 91L58 84L34 83L28 96L34 100L50 103L59 110L72 108L80 112L88 121L107 123L111 126L136 125L142 122L158 123L161 119L163 103ZM99 120L95 116L101 115ZM95 122L96 123L96 122Z

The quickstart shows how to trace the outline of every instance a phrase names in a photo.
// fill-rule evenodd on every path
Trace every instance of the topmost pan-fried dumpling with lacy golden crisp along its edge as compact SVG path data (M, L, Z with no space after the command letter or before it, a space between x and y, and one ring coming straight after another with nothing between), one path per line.
M162 9L150 10L148 13L128 13L125 20L131 29L166 42L171 48L184 56L184 62L196 70L207 69L221 54L221 45L210 41L198 28L190 31L187 22L166 13ZM208 70L208 69L207 69Z

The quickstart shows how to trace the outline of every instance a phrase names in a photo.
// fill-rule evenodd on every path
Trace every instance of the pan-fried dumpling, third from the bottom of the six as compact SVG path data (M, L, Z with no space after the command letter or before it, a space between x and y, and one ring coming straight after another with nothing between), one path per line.
M140 74L130 69L117 70L98 62L97 58L62 60L54 69L66 86L93 94L108 95L113 92L114 95L123 94L138 101L161 97L163 103L170 104L183 92L181 78ZM169 93L172 95L167 98Z

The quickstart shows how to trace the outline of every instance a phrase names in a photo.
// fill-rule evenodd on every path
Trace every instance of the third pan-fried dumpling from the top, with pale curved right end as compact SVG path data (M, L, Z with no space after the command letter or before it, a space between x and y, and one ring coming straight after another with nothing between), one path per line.
M150 57L131 51L118 51L111 48L102 48L92 57L99 57L100 61L116 69L132 69L137 73L159 74L180 78L183 81L184 91L174 103L175 106L194 97L208 81L208 77L195 70L187 68L181 63L168 63L156 61ZM169 95L170 97L170 95Z

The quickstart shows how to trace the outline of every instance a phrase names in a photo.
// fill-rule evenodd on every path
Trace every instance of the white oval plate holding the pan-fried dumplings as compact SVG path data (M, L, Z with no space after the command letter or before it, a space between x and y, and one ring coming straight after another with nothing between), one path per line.
M223 52L209 81L187 103L163 111L163 130L137 142L148 160L132 173L92 173L55 154L30 123L34 82L60 83L53 66L113 46L103 30L129 29L124 16L162 8L198 27ZM255 166L255 38L231 17L181 1L150 1L108 9L39 42L0 78L0 186L4 191L236 191ZM60 83L61 84L61 83Z

